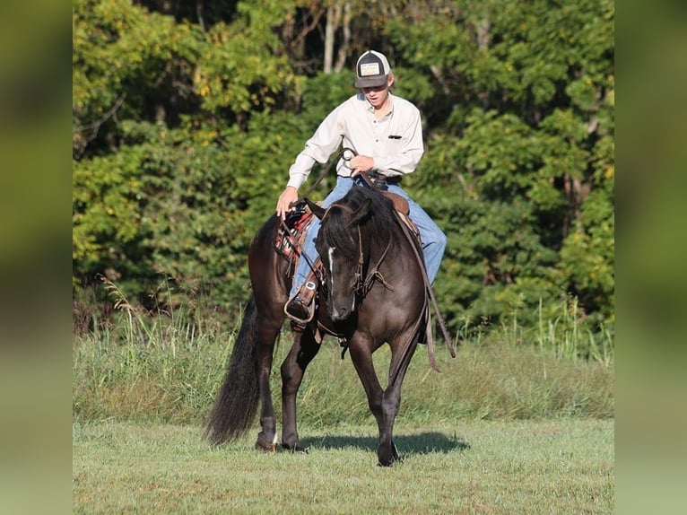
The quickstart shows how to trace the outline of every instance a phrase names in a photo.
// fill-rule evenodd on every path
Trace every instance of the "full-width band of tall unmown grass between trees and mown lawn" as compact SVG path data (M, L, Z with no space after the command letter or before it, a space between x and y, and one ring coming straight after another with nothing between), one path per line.
M117 316L74 335L75 418L203 423L238 325L196 305L146 312L115 284L105 287ZM561 318L540 319L539 327L519 327L516 320L478 331L462 342L456 359L438 346L441 374L430 369L426 347L419 346L404 380L399 423L613 416L613 335L578 329L573 319ZM272 377L278 416L288 329L282 340ZM375 354L383 384L389 359L387 346ZM332 338L300 388L299 421L319 428L372 421L352 362L341 359Z

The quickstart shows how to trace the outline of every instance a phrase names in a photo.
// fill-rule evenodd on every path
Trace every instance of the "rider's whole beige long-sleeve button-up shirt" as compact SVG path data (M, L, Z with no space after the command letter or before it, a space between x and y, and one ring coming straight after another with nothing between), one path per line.
M381 119L362 93L329 113L291 165L287 186L300 188L315 162L324 164L340 144L358 155L372 157L374 170L387 177L412 173L424 153L420 110L391 93L389 99L391 109ZM340 159L336 173L350 177L348 161Z

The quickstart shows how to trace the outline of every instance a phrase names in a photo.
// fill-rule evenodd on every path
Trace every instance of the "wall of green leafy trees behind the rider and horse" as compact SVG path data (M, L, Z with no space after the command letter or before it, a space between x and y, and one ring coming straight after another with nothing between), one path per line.
M404 184L448 233L449 325L561 296L613 321L612 1L194 5L74 1L77 288L243 300L253 232L371 47L426 121Z

